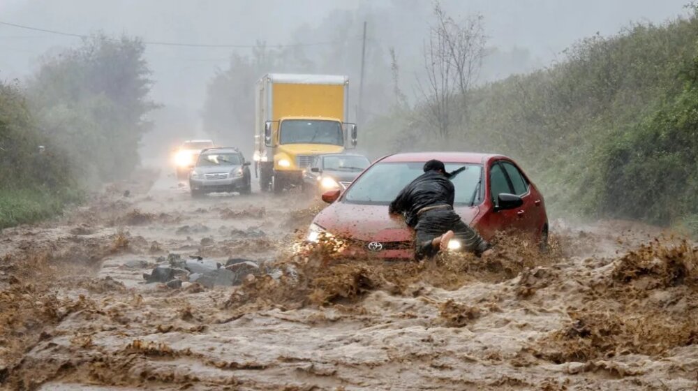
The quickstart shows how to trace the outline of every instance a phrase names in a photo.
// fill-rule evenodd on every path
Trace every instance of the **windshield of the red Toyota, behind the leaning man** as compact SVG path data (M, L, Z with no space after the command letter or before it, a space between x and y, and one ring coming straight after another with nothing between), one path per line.
M446 170L452 172L466 167L452 178L456 194L454 203L470 205L475 195L475 204L480 203L482 186L480 182L482 165L466 163L445 163ZM424 174L424 162L419 163L378 163L359 177L347 190L344 202L355 204L388 205L400 191L419 175Z

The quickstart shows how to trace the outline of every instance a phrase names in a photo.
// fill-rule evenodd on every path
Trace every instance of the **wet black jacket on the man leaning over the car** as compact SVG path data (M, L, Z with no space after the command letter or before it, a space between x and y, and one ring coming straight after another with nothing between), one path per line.
M438 171L427 171L402 189L395 200L390 202L388 211L404 213L405 222L414 228L419 210L436 205L453 207L455 193L453 183L445 175Z

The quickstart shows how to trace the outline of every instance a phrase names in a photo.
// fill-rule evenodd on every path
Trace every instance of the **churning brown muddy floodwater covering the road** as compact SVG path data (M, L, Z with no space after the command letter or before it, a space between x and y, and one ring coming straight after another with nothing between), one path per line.
M547 254L507 239L487 261L298 256L322 205L296 193L192 200L168 181L110 186L0 234L0 387L697 387L698 249L680 238L557 221ZM144 279L189 256L260 267L238 286Z

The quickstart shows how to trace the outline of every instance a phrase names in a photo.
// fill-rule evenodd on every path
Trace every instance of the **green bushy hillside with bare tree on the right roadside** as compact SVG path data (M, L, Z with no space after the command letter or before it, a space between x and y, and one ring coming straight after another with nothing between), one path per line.
M364 126L371 152L447 145L507 154L542 187L552 216L639 219L698 232L696 15L586 38L549 68L463 91L457 58L439 47L463 38L439 32L447 24L438 11L425 50L431 73L423 85L433 90L415 105L396 99L389 115ZM461 29L469 23L456 22ZM393 70L396 79L399 64Z

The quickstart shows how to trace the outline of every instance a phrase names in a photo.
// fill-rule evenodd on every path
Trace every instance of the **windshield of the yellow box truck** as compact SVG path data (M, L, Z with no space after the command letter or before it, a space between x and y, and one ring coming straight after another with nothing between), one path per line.
M286 119L281 122L279 144L344 145L338 121Z

